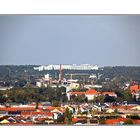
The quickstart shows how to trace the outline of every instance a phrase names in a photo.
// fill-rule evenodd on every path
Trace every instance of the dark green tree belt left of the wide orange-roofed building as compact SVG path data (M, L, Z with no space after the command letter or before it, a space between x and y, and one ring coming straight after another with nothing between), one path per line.
M57 102L67 101L66 89L57 88L13 88L0 91L0 103L22 103L49 101L56 106Z

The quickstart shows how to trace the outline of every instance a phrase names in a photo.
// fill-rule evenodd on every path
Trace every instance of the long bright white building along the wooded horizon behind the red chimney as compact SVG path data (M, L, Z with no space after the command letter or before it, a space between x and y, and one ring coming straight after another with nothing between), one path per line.
M60 65L47 65L47 66L39 66L34 67L34 70L59 70ZM97 65L90 65L90 64L81 64L81 65L62 65L63 70L98 70Z

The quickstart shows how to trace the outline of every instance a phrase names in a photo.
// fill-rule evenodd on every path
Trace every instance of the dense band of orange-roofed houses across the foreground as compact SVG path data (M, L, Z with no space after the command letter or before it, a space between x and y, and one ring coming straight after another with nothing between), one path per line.
M70 123L65 122L66 110L71 112ZM54 107L40 103L0 106L0 125L123 125L129 118L140 124L139 105L67 104ZM105 119L102 119L105 118Z

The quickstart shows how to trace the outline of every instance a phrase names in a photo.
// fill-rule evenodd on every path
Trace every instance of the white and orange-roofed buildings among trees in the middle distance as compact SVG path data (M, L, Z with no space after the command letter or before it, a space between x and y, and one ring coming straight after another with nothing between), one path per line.
M76 79L63 79L61 80L61 84L59 84L59 80L52 80L52 78L49 76L49 74L46 74L44 77L42 77L41 79L38 79L36 82L36 86L37 87L47 87L49 85L49 87L54 87L56 88L57 86L63 86L66 88L66 95L68 97L68 100L70 100L70 97L72 95L85 95L85 97L87 97L87 99L93 100L94 97L100 96L100 95L109 95L109 96L113 96L113 97L117 97L117 95L114 92L97 92L96 90L92 89L92 88L102 88L101 85L89 85L89 84L85 84L83 85L83 88L89 89L86 92L72 92L73 89L78 89L80 88L80 83L78 80Z

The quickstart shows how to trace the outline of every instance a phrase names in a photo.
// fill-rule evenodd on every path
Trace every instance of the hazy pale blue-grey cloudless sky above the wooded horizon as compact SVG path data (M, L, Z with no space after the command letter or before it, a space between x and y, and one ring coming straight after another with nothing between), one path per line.
M140 66L139 15L1 15L0 65Z

